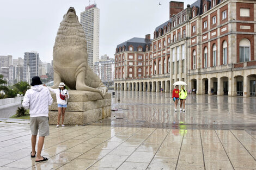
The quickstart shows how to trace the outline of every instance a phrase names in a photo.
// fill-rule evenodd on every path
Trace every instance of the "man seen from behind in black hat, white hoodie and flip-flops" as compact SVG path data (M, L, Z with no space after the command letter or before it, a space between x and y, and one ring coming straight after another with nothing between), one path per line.
M32 132L31 158L35 158L36 162L48 160L41 156L42 146L44 146L45 136L49 135L48 124L48 106L52 104L52 96L48 89L41 85L42 82L38 76L32 78L32 87L25 93L22 105L29 109L30 128ZM39 132L38 153L35 151L36 136Z

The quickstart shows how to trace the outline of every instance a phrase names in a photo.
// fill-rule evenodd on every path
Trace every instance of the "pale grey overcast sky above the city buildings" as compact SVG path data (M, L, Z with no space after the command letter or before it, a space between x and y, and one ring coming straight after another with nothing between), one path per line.
M183 2L186 8L188 0ZM95 3L100 9L100 56L107 54L114 58L119 43L146 34L152 38L155 28L169 20L168 0ZM63 15L69 7L74 7L80 21L80 13L88 5L88 0L0 0L0 55L13 55L17 59L23 58L24 52L37 51L42 62L51 62Z

